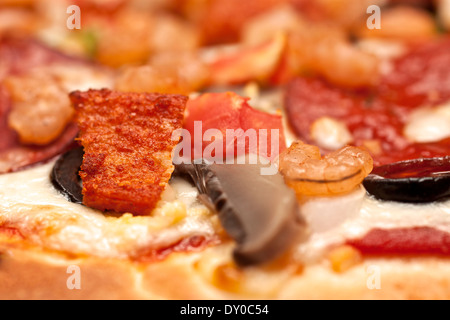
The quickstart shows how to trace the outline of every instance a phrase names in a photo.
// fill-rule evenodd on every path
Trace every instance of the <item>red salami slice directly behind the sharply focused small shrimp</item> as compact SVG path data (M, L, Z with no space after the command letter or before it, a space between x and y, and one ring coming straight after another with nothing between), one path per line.
M355 145L379 140L383 152L403 149L402 119L405 108L384 102L370 94L346 91L321 79L297 78L286 89L285 108L289 123L302 140L314 143L311 125L321 117L345 123Z

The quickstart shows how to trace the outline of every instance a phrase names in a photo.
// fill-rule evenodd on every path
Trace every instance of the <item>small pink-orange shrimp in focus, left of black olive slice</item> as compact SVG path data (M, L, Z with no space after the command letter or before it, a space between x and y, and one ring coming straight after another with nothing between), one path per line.
M322 158L318 147L298 141L279 159L279 170L298 198L349 193L361 184L372 169L370 154L352 146Z

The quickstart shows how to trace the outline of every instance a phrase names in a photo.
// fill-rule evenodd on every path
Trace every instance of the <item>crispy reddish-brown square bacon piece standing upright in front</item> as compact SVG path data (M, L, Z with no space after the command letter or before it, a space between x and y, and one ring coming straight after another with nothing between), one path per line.
M70 95L84 147L83 203L99 210L150 214L173 171L187 97L110 90ZM133 201L130 201L133 199Z

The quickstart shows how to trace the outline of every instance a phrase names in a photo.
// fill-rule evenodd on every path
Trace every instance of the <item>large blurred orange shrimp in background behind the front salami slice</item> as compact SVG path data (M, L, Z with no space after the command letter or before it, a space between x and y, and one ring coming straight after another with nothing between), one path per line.
M270 29L268 26L276 25ZM374 85L380 59L350 42L345 29L308 21L292 6L278 7L250 20L241 38L246 44L267 41L277 31L286 35L286 49L273 77L284 84L301 74L317 74L345 87Z

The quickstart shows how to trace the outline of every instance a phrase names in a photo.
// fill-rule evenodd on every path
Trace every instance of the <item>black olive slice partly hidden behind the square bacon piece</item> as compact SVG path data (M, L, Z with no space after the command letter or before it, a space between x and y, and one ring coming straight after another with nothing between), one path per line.
M81 179L78 174L83 162L83 154L82 147L66 152L56 161L50 174L53 186L70 201L78 204L83 203Z

